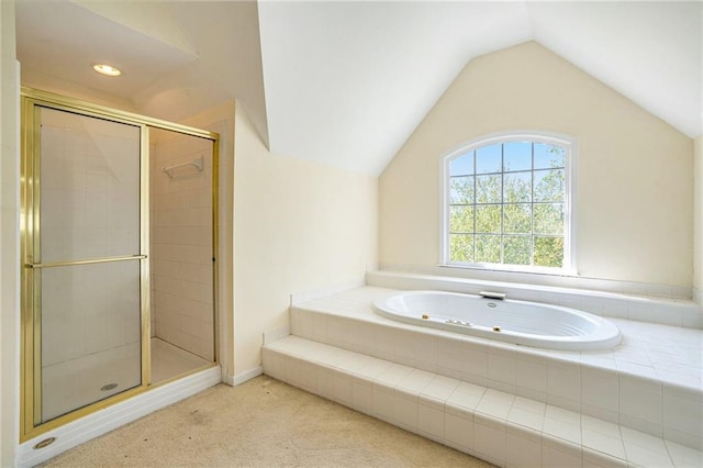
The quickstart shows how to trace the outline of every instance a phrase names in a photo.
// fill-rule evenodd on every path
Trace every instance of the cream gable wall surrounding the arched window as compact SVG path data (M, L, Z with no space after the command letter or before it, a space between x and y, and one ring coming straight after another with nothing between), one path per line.
M691 287L693 142L535 42L470 62L381 175L381 266L439 261L446 152L529 129L578 138L580 275Z

